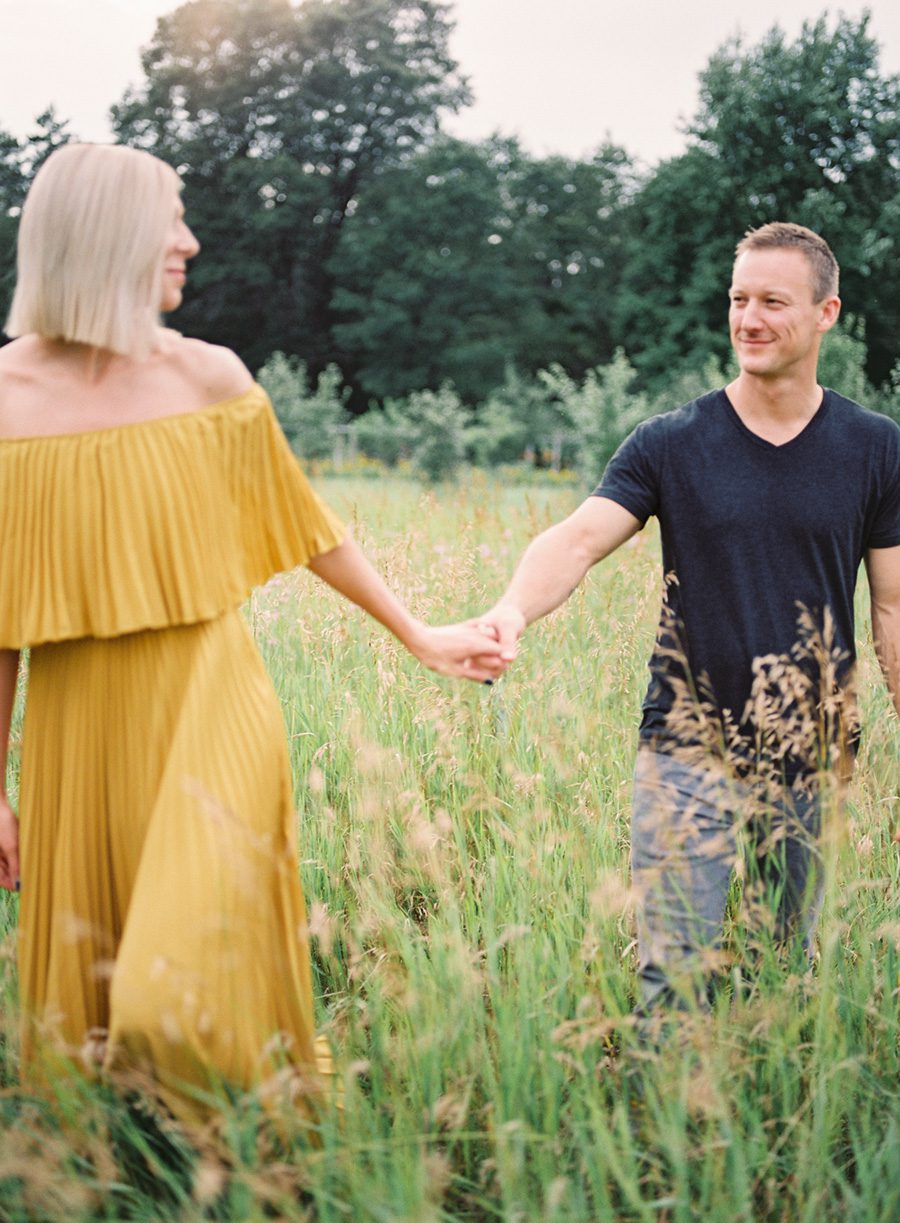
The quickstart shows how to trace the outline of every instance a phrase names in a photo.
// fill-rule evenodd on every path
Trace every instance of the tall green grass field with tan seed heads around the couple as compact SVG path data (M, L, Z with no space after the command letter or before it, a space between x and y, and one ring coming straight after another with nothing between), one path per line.
M434 621L482 610L578 499L477 476L324 492ZM311 1145L236 1106L193 1151L101 1087L31 1097L4 896L0 1218L900 1217L900 745L865 592L867 734L827 838L814 970L763 955L742 975L752 948L730 918L713 1013L651 1054L630 1018L629 788L659 585L651 530L529 631L494 689L417 668L306 574L260 592L344 1113Z

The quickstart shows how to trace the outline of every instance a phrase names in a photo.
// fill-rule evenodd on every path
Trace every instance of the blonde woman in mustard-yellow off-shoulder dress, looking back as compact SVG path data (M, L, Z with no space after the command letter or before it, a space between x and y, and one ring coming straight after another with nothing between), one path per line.
M26 201L0 350L0 779L18 651L26 1065L149 1066L172 1107L223 1082L315 1088L292 785L240 604L308 565L427 667L492 679L428 627L307 484L231 352L164 330L199 247L180 181L68 146ZM0 801L0 883L18 888ZM55 1055L55 1054L54 1054Z

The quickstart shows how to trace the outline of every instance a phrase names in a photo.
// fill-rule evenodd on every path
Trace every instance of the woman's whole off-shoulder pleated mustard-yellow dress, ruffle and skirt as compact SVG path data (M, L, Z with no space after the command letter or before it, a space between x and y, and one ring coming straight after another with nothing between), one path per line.
M336 547L265 393L0 442L0 646L31 647L23 1064L315 1081L281 711L240 612Z

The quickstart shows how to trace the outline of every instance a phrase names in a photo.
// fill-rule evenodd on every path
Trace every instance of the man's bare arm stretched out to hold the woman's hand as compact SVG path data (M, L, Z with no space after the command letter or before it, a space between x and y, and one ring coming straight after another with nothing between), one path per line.
M506 592L478 618L496 632L501 657L515 658L526 627L565 603L592 565L640 530L640 519L618 501L588 497L567 519L532 539Z

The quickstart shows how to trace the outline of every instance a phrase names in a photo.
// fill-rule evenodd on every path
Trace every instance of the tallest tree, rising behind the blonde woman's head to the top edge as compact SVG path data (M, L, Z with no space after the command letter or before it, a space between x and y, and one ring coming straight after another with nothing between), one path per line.
M185 176L205 247L186 329L252 366L340 356L331 259L364 185L466 100L450 28L438 0L193 0L159 21L114 124Z

